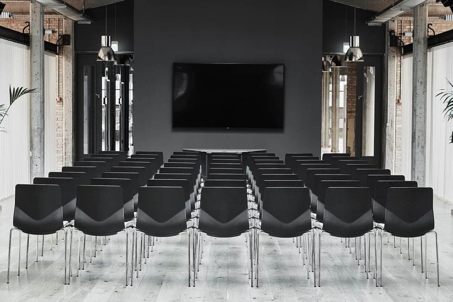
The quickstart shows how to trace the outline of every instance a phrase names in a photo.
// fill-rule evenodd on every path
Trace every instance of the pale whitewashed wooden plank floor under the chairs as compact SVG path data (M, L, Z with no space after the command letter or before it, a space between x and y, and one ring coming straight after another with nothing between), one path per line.
M63 285L64 241L50 250L44 242L44 257L35 262L36 238L30 240L29 268L25 269L26 237L22 237L20 276L17 276L18 237L14 237L10 284L6 284L8 236L12 225L14 199L1 202L0 212L0 301L453 301L453 216L452 203L435 200L436 230L439 233L440 281L435 278L434 241L429 243L428 279L420 272L419 240L416 266L393 242L384 244L383 287L366 279L364 266L338 238L323 237L321 287L307 279L301 254L290 239L261 237L260 286L250 288L243 237L207 238L204 258L195 288L187 286L187 236L159 239L148 264L143 265L134 286L125 287L125 236L112 237L89 259L80 277ZM76 240L75 240L76 241ZM74 244L74 253L77 244ZM89 253L88 253L89 254ZM75 257L73 267L75 268ZM372 260L372 267L374 260ZM74 269L75 270L75 269Z

